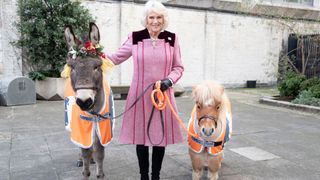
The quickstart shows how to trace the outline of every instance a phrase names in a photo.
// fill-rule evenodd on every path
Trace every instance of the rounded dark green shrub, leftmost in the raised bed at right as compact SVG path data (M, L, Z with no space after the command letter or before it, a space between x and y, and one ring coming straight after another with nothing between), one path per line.
M300 84L305 81L305 76L288 71L283 81L278 85L280 96L295 98L300 93Z

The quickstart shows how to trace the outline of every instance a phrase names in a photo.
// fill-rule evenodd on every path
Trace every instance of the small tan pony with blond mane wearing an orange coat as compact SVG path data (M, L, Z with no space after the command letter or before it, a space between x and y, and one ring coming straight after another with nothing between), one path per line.
M215 180L218 179L224 144L232 133L231 103L224 87L212 81L197 85L192 96L195 105L188 130L198 135L188 135L192 179L199 180L203 168L208 166L208 178Z

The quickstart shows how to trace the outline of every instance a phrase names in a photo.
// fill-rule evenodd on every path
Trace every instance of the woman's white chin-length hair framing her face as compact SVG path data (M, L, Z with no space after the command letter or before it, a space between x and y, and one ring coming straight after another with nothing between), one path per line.
M161 3L156 0L149 0L145 6L142 13L141 24L144 27L147 27L147 18L150 12L155 12L163 16L163 27L162 30L165 30L168 27L169 17L167 8Z

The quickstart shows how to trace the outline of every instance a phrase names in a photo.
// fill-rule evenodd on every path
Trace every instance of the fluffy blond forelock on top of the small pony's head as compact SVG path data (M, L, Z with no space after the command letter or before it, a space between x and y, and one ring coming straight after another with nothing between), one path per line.
M216 104L216 100L220 101L222 90L222 87L218 83L205 81L193 89L192 97L197 103L211 106Z

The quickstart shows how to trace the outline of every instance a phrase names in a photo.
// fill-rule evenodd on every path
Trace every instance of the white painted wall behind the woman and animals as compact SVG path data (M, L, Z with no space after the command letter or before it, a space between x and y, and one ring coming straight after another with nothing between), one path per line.
M0 1L0 79L21 75L21 53L10 45L17 39L13 26L16 0ZM141 30L143 4L84 1L97 19L101 44L116 51L132 31ZM215 11L168 7L167 30L178 35L185 72L179 83L190 87L204 79L243 87L247 80L273 84L277 79L279 53L293 28L298 33L319 33L319 23L266 19ZM284 42L284 43L283 43ZM2 70L1 70L2 65ZM117 66L110 83L130 85L132 60Z

